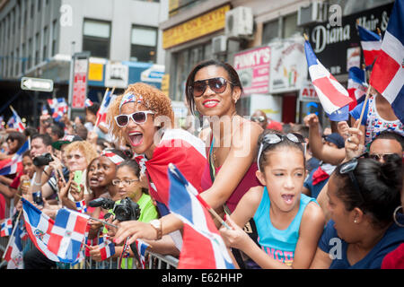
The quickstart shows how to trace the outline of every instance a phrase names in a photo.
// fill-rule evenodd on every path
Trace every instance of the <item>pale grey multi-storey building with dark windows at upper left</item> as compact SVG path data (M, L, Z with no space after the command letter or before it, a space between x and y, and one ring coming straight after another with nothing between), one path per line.
M46 78L55 89L40 94L37 108L51 96L67 99L71 58L83 51L90 52L93 101L113 86L119 91L144 81L160 88L165 51L159 23L167 15L167 0L0 1L0 90L15 93L22 76Z

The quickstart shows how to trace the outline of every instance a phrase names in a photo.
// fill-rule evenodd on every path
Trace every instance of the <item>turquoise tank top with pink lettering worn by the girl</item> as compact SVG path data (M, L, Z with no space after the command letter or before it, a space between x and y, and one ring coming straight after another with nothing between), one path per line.
M287 229L278 230L272 225L269 218L270 200L268 189L264 187L261 202L253 218L257 226L259 245L270 257L285 263L285 265L292 265L303 212L307 204L312 201L317 203L314 198L302 194L299 211L294 216L294 220Z

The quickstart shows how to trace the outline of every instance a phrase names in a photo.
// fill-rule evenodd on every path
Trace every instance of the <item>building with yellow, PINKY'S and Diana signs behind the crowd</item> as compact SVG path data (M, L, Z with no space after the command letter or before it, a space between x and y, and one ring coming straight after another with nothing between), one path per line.
M347 67L363 63L353 57L360 49L356 21L383 32L393 2L171 0L169 18L160 24L171 98L184 100L193 65L217 58L241 77L242 116L263 109L270 118L294 123L315 112L327 125L308 75L303 32L321 63L346 86Z

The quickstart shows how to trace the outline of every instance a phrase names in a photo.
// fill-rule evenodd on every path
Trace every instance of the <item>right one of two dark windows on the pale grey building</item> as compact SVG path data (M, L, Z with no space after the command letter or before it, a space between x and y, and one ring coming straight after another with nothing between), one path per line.
M132 27L130 39L130 60L135 62L156 62L157 29L154 27Z

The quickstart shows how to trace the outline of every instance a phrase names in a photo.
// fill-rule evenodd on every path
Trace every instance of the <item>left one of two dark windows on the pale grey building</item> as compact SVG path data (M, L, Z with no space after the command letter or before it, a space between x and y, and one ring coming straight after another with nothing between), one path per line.
M92 57L110 57L110 22L84 20L83 51Z

